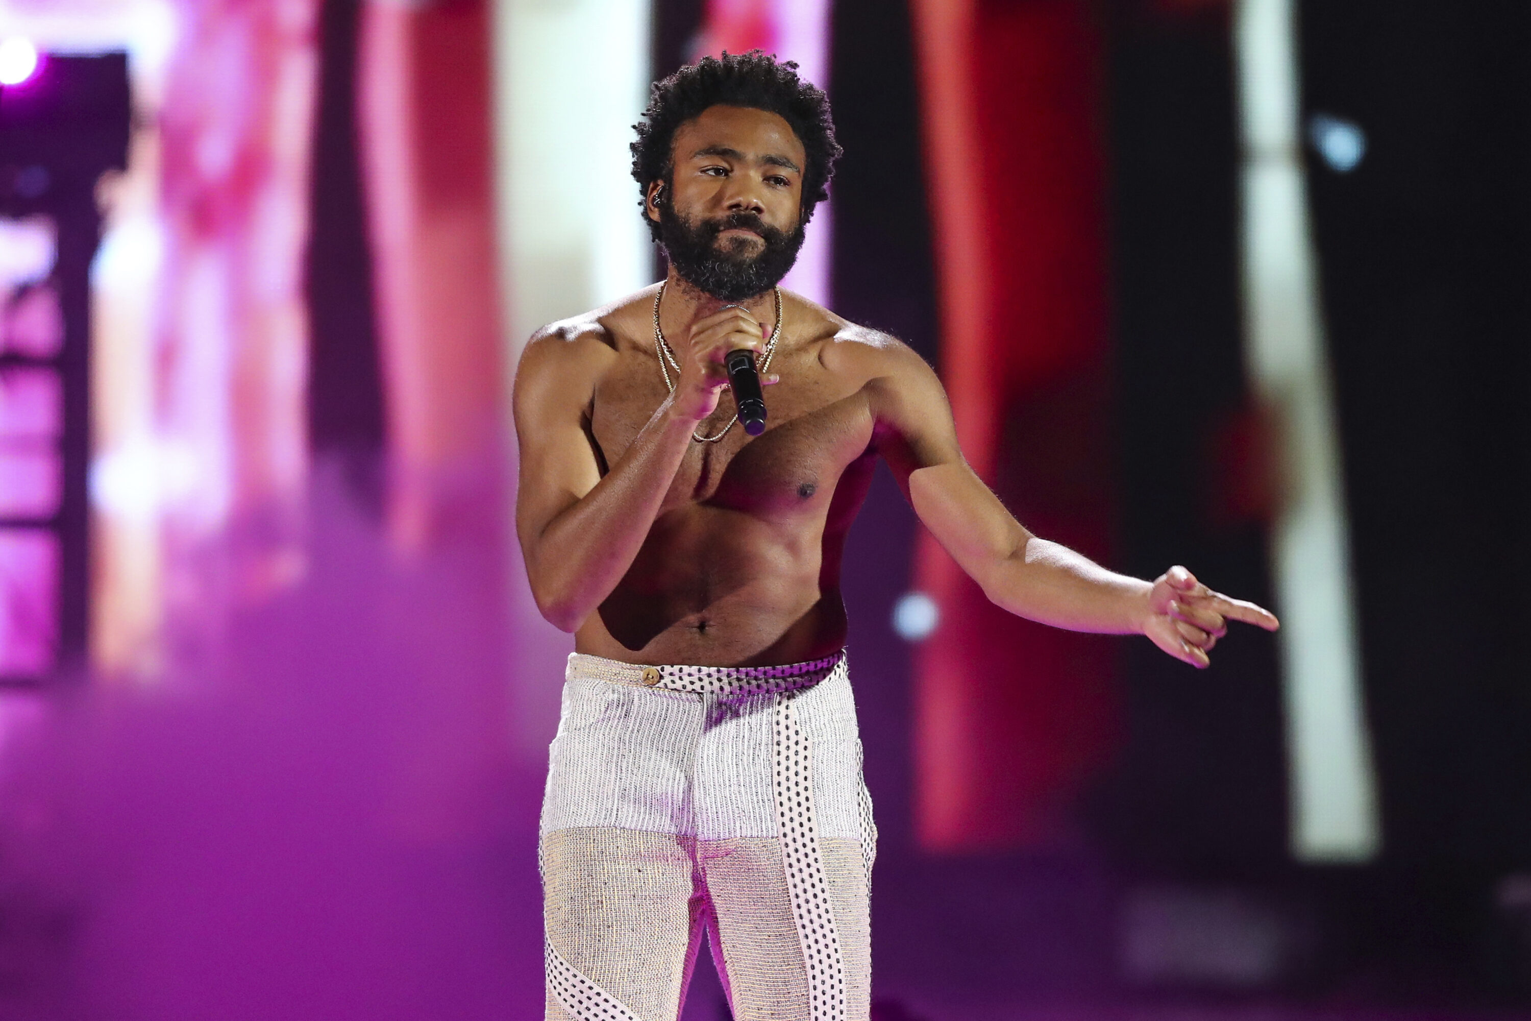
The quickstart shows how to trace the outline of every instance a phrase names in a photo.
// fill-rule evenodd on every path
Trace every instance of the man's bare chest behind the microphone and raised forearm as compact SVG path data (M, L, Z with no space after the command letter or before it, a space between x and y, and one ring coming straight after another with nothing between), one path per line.
M781 360L772 370L781 383L766 387L766 432L752 438L735 424L717 442L692 442L666 507L709 502L769 514L828 501L845 465L871 442L862 381L836 377L811 357ZM591 409L591 433L606 465L622 458L668 395L652 357L628 354L606 373ZM733 412L733 395L724 390L697 435L718 435Z

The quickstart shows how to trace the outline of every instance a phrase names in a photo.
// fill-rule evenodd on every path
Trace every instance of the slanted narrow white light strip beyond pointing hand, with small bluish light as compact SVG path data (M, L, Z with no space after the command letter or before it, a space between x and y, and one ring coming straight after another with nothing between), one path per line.
M1334 384L1298 150L1295 5L1236 5L1245 352L1255 393L1281 422L1288 479L1271 528L1271 559L1281 614L1292 851L1304 862L1366 862L1381 848L1381 820L1361 698ZM1335 170L1349 170L1366 139L1358 127L1329 121L1324 141L1318 119L1309 122L1314 144Z

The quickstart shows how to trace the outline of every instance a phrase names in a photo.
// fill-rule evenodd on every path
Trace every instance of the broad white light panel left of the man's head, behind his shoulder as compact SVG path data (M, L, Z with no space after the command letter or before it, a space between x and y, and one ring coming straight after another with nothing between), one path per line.
M649 95L652 12L649 0L495 0L493 9L495 184L511 367L537 326L654 282L654 243L628 176L632 122ZM514 540L505 548L519 556ZM537 678L563 675L568 635L537 612L519 560L507 565L507 577L517 579L507 628L516 637L516 742L524 755L547 756L550 735L539 721L557 718L559 692Z

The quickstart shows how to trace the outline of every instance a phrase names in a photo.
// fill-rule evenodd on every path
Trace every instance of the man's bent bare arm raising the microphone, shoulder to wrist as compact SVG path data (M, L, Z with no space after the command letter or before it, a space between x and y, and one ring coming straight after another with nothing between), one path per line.
M586 415L614 358L594 331L554 328L531 338L516 372L516 534L537 609L562 631L579 629L632 566L695 427L666 400L602 476Z

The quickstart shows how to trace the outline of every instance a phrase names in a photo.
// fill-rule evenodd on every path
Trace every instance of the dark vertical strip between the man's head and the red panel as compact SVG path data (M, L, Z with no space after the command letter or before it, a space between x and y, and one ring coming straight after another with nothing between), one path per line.
M934 363L935 285L908 5L837 0L830 67L845 148L834 173L834 311ZM879 468L847 543L842 588L883 874L911 850L912 836L912 646L894 634L893 608L911 585L914 537L914 511Z

